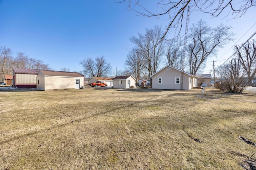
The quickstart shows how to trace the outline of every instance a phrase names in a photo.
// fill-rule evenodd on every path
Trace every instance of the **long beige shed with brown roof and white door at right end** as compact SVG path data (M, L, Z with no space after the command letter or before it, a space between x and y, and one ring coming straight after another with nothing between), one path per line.
M38 90L80 89L84 86L84 75L78 72L40 70L36 77Z

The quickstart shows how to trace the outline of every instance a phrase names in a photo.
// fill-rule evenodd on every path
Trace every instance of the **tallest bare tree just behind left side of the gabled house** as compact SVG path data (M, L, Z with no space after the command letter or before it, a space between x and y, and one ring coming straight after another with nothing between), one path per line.
M162 34L162 27L155 26L152 29L146 29L145 35L138 33L138 37L130 38L130 41L136 45L136 51L143 56L144 67L147 68L149 76L156 72L162 62L162 55L164 54L164 41L161 41Z

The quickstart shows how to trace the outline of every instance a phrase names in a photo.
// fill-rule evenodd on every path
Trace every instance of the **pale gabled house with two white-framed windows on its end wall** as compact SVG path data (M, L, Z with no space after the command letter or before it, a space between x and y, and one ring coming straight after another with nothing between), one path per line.
M183 72L182 81L182 70L168 65L150 78L152 78L152 89L189 90L196 86L196 76Z

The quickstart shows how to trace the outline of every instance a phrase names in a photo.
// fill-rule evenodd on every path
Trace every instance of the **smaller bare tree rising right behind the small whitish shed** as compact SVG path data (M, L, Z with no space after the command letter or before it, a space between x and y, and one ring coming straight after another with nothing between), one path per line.
M142 65L144 65L144 59L141 53L139 53L136 49L130 51L127 55L124 65L126 70L129 70L134 76L136 83L138 83L140 74L143 70Z

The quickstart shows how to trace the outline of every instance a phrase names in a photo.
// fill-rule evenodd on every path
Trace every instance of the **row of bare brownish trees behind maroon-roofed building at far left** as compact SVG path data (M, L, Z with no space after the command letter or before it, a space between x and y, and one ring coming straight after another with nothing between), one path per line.
M50 70L49 64L42 60L28 57L22 52L13 55L13 51L7 47L0 47L0 80L4 80L4 75L12 75L13 68L31 68L40 70Z

